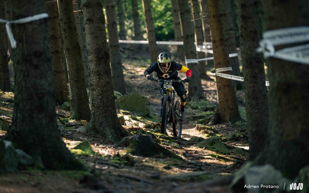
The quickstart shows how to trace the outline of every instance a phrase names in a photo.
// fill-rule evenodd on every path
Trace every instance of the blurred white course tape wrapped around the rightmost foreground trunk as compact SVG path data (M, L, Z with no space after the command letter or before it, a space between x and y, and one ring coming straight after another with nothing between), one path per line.
M290 27L265 31L260 47L256 50L263 52L264 58L278 59L309 65L309 44L284 48L276 51L274 46L309 41L309 27Z

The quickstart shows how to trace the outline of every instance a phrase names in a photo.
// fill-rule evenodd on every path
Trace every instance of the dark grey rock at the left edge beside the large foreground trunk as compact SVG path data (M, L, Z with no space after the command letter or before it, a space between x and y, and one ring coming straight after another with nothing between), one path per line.
M15 171L19 162L19 155L16 153L11 141L0 140L0 171Z

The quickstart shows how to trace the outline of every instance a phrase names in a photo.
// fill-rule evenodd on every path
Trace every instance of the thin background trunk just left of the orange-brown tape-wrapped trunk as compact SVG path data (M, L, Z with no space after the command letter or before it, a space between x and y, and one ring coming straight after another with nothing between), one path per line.
M209 21L209 11L208 11L208 2L207 0L201 0L201 12L202 15L204 16L202 21L203 21L203 32L204 32L204 41L205 42L210 42L211 41L211 33L210 33L210 21ZM206 48L207 49L207 48ZM205 53L206 57L213 57L212 53ZM214 60L207 60L207 65L214 64Z

